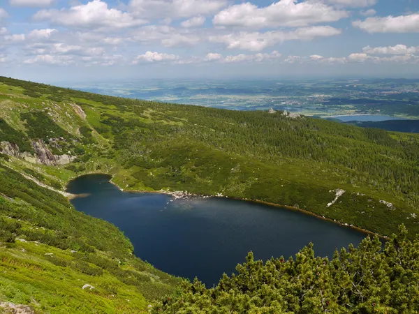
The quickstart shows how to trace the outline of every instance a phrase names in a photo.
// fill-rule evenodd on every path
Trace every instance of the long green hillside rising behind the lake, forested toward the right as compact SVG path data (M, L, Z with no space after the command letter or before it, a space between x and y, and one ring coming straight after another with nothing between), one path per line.
M0 137L9 167L56 188L105 172L126 190L221 193L384 235L419 231L417 134L0 77Z

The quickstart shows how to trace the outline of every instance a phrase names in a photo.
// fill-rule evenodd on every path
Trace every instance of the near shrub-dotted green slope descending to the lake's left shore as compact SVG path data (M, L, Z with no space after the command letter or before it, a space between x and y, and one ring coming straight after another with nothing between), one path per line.
M0 163L0 312L3 301L35 313L148 313L179 279L132 251L116 227Z

